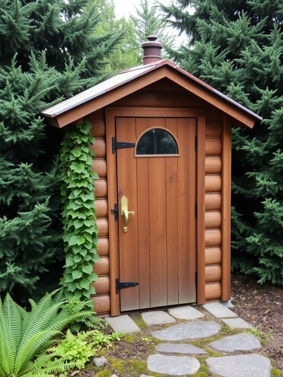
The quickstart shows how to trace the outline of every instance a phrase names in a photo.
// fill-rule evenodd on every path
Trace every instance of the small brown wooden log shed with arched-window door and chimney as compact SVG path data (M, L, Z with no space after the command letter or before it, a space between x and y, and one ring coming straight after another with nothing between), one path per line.
M230 299L231 127L261 118L148 39L143 65L42 112L92 124L100 315Z

